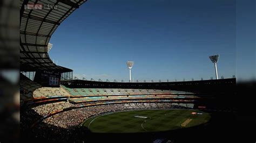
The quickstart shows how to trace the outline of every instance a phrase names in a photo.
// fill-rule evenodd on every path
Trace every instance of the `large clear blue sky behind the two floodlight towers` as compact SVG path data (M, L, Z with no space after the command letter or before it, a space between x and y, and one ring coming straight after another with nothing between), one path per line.
M178 81L236 74L236 5L231 0L91 0L53 33L51 59L87 80Z

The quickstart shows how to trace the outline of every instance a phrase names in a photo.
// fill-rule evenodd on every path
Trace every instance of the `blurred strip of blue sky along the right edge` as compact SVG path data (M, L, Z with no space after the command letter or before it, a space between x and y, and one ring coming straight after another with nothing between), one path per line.
M237 1L237 79L256 81L256 1Z

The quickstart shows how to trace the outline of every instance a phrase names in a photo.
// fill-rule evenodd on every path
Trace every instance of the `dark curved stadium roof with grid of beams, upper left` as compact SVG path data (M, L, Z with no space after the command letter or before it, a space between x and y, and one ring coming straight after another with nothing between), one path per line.
M60 23L86 1L20 1L21 71L56 70L62 73L72 71L52 62L48 54L48 44Z

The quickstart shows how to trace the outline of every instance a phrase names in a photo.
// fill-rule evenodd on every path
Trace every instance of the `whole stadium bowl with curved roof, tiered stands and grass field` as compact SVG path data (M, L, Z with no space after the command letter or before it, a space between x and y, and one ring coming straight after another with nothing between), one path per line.
M130 82L103 82L75 79L72 69L56 65L48 54L51 35L85 2L20 1L23 141L118 141L117 135L134 142L195 141L195 135L210 137L224 125L214 126L219 113L224 123L232 123L228 117L235 110L227 101L234 94L234 77L131 82L130 76ZM58 9L25 9L35 4Z

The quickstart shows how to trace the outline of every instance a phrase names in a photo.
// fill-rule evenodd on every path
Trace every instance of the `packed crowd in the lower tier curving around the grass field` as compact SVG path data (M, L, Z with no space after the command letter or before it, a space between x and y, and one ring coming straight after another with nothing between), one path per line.
M93 103L90 103L93 104ZM95 104L95 102L94 102ZM122 103L122 104L102 104L86 106L88 103L71 104L68 102L49 103L41 105L31 105L24 109L21 114L22 132L30 131L30 137L46 139L50 141L68 141L77 139L85 127L81 129L79 124L91 116L96 116L105 112L141 110L141 109L170 109L170 108L191 108L191 104L169 103L169 102L144 102L144 103ZM83 108L79 108L83 106ZM70 109L62 111L63 109ZM49 113L60 111L55 115L43 118L38 123L36 121ZM31 126L37 123L35 126ZM81 131L82 130L82 131ZM32 134L31 134L32 133Z

